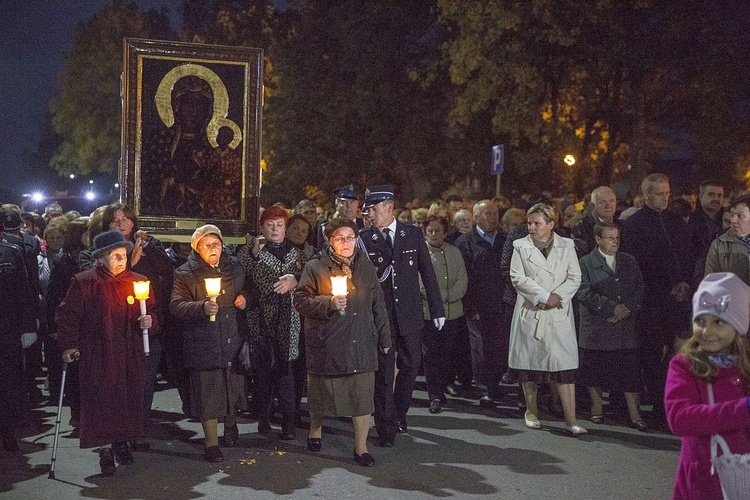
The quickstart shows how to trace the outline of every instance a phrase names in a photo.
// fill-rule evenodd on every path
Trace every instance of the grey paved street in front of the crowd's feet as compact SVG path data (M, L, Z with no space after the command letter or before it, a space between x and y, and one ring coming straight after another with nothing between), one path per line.
M56 407L36 410L21 452L0 451L0 498L485 498L663 499L671 493L680 442L663 433L643 434L617 425L581 422L587 436L564 435L559 419L528 430L512 404L484 410L452 399L430 415L424 392L415 392L409 433L395 448L370 452L372 468L352 460L351 424L329 419L323 450L305 450L306 432L283 442L256 433L240 420L240 445L224 448L225 461L202 460L200 424L179 413L173 389L157 392L152 449L114 477L99 475L95 450L71 438L68 409L58 447L56 479L48 478ZM372 434L375 432L373 430Z

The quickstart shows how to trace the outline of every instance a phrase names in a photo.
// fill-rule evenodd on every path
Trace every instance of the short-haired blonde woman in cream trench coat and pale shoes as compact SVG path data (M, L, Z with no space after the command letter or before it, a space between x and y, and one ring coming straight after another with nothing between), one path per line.
M524 421L540 429L537 384L557 386L565 425L573 435L585 434L575 414L578 344L573 322L573 296L581 284L573 240L552 232L554 208L537 203L526 213L529 235L513 242L510 279L518 292L510 331L508 365L518 376L526 399Z

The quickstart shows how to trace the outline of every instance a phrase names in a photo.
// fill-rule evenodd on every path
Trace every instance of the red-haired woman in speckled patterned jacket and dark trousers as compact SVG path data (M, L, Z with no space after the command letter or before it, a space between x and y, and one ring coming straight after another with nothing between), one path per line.
M256 363L258 432L271 432L273 395L282 413L281 439L294 435L293 361L299 357L299 314L292 306L292 292L306 259L285 237L288 214L270 206L260 216L260 238L252 238L238 253L247 270L247 286L258 298L258 307L247 313Z

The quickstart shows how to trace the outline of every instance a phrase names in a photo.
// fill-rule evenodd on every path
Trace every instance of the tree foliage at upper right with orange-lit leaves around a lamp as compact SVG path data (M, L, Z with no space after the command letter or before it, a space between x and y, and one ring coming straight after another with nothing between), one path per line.
M469 130L489 119L513 169L579 191L618 174L637 185L684 149L681 135L711 151L694 152L699 161L721 162L727 143L746 142L725 133L742 85L718 76L747 46L739 4L438 0L458 89L450 118ZM565 172L568 153L579 161Z

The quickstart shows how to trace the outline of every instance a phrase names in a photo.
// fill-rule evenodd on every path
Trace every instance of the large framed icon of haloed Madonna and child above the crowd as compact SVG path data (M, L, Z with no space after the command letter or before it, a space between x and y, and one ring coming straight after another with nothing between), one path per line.
M257 229L263 51L126 38L124 58L120 184L140 227Z

